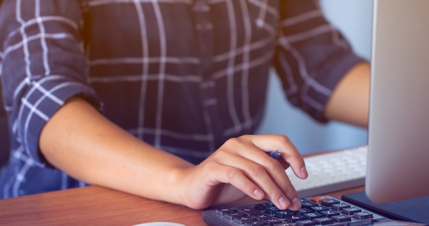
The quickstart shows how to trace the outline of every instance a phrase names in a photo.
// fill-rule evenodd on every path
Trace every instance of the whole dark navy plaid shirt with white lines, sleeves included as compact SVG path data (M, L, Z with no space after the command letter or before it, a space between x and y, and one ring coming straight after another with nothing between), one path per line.
M0 75L13 138L0 196L85 185L38 149L42 127L73 96L199 162L255 131L271 66L291 103L326 121L332 89L360 60L317 1L5 0Z

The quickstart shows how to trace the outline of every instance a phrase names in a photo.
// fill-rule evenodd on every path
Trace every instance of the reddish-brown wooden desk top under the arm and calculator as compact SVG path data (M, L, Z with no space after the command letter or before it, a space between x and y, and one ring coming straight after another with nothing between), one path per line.
M331 193L341 197L354 188ZM254 203L243 199L233 205ZM131 194L88 186L44 194L0 200L0 225L135 225L169 221L184 225L205 225L202 210L163 203Z

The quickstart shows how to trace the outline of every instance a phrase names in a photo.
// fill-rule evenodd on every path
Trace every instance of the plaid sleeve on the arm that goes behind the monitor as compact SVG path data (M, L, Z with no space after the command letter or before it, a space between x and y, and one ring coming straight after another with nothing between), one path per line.
M318 1L281 1L274 65L289 101L326 122L326 103L343 75L358 62L350 44L326 18Z

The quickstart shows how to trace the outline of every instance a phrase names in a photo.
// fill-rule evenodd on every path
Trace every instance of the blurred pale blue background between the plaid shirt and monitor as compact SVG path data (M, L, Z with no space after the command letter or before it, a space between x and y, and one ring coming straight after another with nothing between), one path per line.
M328 21L349 40L354 51L371 56L372 0L321 0ZM272 71L265 118L257 134L285 134L301 153L344 149L367 144L367 129L339 122L317 123L291 106Z

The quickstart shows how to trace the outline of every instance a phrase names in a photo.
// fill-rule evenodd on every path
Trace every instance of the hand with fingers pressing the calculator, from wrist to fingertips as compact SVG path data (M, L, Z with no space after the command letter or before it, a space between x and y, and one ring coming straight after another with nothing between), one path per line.
M280 159L269 157L268 151L279 151ZM267 196L282 210L298 210L301 203L284 171L289 166L297 177L307 177L302 156L286 136L232 138L201 164L181 171L180 195L184 205L194 209L248 195L258 200Z

